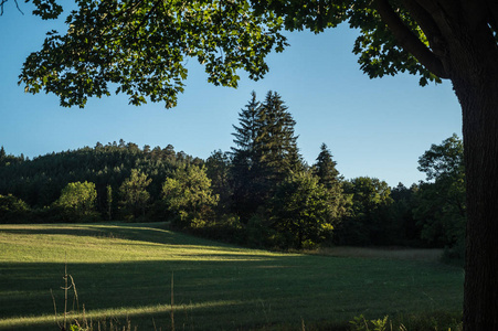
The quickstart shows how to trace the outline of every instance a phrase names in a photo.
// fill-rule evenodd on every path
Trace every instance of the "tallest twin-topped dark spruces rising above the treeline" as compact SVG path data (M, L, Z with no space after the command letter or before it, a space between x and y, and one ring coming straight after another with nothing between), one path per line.
M294 135L296 121L277 93L268 92L261 104L253 92L239 116L232 148L233 210L246 222L303 162Z

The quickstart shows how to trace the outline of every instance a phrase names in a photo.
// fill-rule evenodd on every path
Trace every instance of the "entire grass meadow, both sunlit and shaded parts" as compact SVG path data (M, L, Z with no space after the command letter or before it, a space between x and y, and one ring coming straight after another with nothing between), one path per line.
M170 329L172 275L177 330L327 330L359 314L410 327L411 314L462 311L460 268L390 252L279 254L157 223L0 225L0 329L57 330L51 289L61 312L65 260L88 319L128 318L139 331Z

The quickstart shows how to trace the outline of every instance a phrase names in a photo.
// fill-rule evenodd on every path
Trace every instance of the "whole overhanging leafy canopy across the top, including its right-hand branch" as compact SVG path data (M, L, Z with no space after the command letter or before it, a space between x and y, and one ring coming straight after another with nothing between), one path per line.
M62 13L56 0L32 2L33 13L43 19ZM451 76L444 54L451 46L446 39L455 38L445 35L430 13L455 20L460 10L425 2L81 0L66 18L67 31L47 32L42 50L27 58L20 83L30 93L56 94L63 106L83 107L88 97L115 88L135 105L149 98L172 107L183 90L189 57L205 66L209 82L236 87L239 70L253 79L264 76L265 57L287 45L283 30L318 33L348 22L361 32L353 52L370 77L409 72L425 85ZM483 9L492 7L481 2ZM474 11L476 18L467 23L478 23L492 36L494 12L486 19Z

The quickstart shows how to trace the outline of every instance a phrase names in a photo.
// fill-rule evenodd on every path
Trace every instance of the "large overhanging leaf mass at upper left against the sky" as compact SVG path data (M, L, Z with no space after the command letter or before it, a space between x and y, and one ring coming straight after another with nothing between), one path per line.
M173 107L189 57L205 65L209 82L236 87L237 70L263 77L265 56L285 45L282 20L256 14L247 1L84 0L77 7L67 32L49 32L20 76L27 92L54 93L62 106L84 107L116 86L130 104L150 98Z

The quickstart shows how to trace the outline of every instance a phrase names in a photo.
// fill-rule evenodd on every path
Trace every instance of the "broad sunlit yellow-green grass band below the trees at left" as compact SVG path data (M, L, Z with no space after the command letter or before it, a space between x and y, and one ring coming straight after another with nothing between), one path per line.
M170 231L116 225L6 225L0 261L120 263L226 260L282 256L223 246Z

